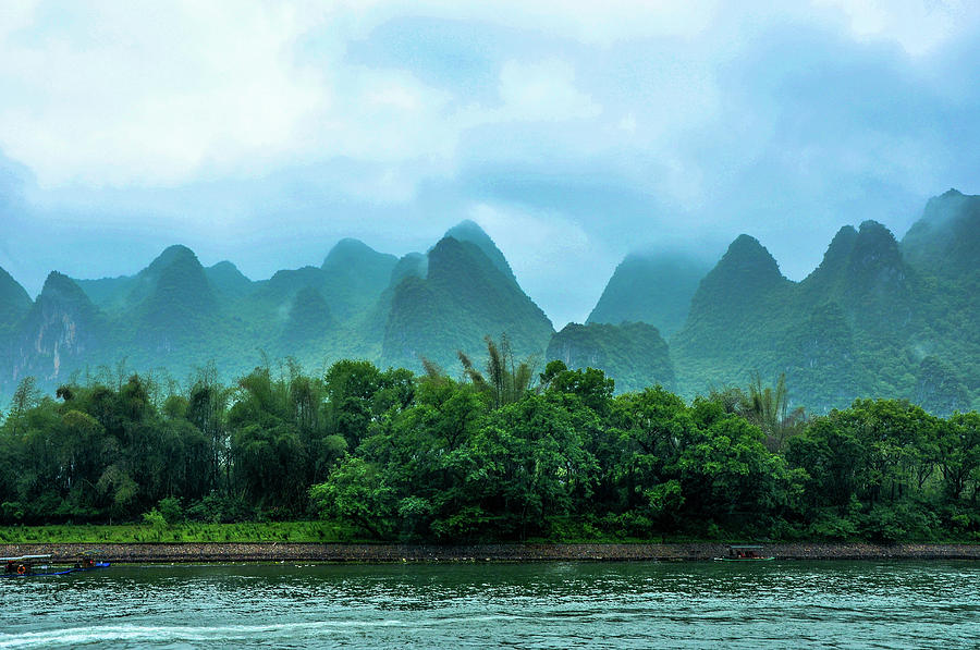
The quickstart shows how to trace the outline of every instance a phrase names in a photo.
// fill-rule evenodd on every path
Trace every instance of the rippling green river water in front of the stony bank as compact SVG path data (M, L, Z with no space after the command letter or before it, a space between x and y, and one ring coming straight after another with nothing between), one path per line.
M980 564L111 567L0 580L0 648L976 648Z

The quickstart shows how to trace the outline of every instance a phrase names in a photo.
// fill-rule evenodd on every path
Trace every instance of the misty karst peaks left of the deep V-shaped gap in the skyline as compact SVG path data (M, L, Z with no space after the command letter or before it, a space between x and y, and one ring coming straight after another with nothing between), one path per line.
M452 236L450 236L452 235ZM171 246L135 275L72 280L52 272L32 303L0 274L0 400L34 376L53 390L73 375L107 378L121 363L185 381L201 363L247 371L264 358L323 368L343 357L458 371L457 351L481 360L483 339L505 334L543 363L553 333L503 254L469 221L427 254L401 260L342 240L320 267L253 281L230 261L204 268Z

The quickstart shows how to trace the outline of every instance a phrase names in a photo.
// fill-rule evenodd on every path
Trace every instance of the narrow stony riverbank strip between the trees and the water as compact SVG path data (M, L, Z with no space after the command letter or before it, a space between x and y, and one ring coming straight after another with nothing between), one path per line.
M775 543L765 553L781 560L980 560L980 544ZM115 563L192 562L540 562L693 561L727 552L723 543L664 544L322 544L322 543L126 543L0 544L0 555L50 553L72 559L86 551Z

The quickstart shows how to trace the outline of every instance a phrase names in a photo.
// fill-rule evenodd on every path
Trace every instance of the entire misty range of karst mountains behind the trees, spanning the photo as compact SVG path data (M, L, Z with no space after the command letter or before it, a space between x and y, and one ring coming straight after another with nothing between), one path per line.
M842 228L800 282L748 235L713 268L629 255L586 323L560 332L469 221L425 254L343 240L321 266L261 281L229 261L206 268L184 246L135 275L53 271L36 299L0 269L0 395L27 376L51 390L123 360L180 380L208 361L231 378L284 357L414 370L425 357L455 376L457 351L481 359L483 338L505 333L539 369L598 367L618 391L660 383L691 397L785 372L792 402L809 409L881 396L947 414L980 406L978 252L980 197L951 189L901 242L873 221Z

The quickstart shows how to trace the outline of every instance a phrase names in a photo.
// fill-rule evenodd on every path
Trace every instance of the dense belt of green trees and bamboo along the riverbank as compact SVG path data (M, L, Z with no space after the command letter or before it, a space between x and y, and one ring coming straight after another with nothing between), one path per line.
M506 340L452 378L341 360L231 385L132 375L41 395L0 425L0 523L326 517L365 538L980 539L980 416L858 400L810 417L781 378L686 403L535 372ZM159 510L158 510L159 508Z

